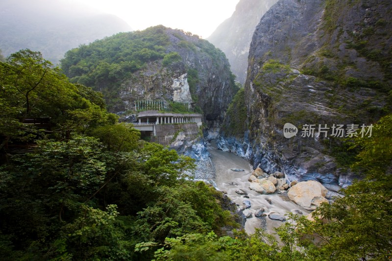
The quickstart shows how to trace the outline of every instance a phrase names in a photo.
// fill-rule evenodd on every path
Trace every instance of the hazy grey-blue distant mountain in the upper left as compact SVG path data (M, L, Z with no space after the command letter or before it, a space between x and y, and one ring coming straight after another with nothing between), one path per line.
M130 30L117 16L82 5L50 0L0 2L0 49L4 56L29 48L57 64L69 49Z

